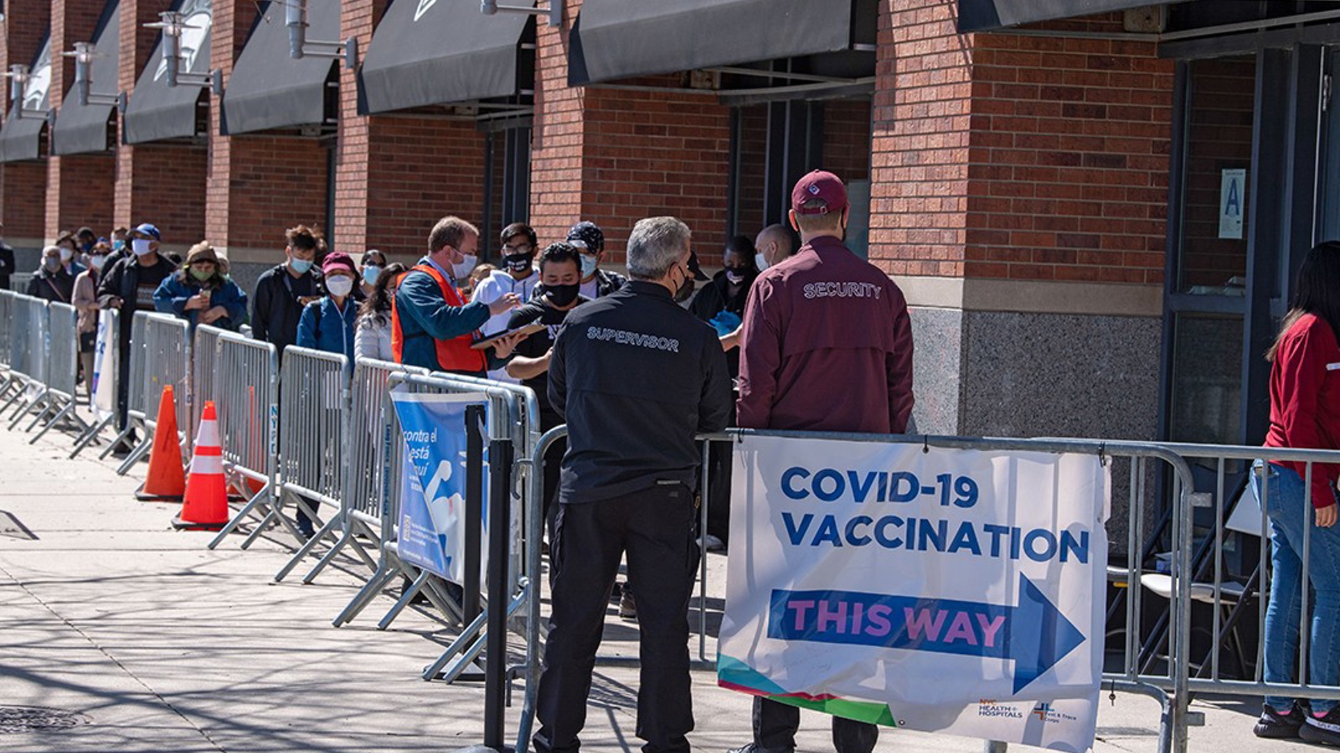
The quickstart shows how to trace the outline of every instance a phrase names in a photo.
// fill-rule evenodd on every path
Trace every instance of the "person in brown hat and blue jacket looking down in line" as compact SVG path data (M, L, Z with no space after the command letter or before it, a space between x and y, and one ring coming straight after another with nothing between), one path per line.
M225 263L209 241L186 252L186 261L158 283L154 308L190 323L236 331L247 322L247 293L228 277Z

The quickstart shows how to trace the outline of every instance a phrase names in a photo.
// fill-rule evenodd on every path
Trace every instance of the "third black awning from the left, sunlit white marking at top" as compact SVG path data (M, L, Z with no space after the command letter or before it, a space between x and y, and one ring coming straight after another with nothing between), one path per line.
M206 74L209 31L213 23L209 0L185 0L180 11L186 16L186 25L196 27L182 32L182 71ZM163 60L163 46L159 39L126 105L122 121L126 143L196 135L196 103L200 102L201 94L198 86L168 86L168 64Z

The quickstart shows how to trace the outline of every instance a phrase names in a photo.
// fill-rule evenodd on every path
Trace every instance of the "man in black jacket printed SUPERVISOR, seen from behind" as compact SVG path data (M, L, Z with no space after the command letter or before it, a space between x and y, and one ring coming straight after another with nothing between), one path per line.
M549 359L549 402L568 422L552 547L553 612L536 715L540 753L575 752L604 608L628 555L638 584L645 753L687 753L689 592L698 431L730 414L716 331L681 308L693 291L689 228L639 221L622 289L568 315Z

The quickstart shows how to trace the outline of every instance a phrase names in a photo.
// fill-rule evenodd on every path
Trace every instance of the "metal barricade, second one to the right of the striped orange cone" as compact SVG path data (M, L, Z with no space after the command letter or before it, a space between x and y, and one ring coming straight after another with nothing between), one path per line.
M348 454L348 359L343 354L289 346L284 348L279 391L279 493L292 501L312 521L322 505L338 508L314 536L284 564L275 581L283 580L327 537L347 528L344 523L344 482L347 466L356 465ZM331 543L331 549L343 543ZM371 569L377 563L362 549L355 552Z

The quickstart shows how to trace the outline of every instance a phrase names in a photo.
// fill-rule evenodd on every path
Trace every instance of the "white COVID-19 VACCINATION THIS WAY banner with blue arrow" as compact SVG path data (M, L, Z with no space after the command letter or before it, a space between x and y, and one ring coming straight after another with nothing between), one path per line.
M1087 750L1108 498L1093 456L742 437L718 682Z

